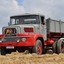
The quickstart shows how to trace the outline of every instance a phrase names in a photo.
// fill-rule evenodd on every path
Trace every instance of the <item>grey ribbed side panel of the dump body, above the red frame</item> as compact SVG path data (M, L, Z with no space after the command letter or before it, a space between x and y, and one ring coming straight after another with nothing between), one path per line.
M47 33L50 33L50 32L64 33L63 31L64 22L62 21L47 19L46 26L47 26Z

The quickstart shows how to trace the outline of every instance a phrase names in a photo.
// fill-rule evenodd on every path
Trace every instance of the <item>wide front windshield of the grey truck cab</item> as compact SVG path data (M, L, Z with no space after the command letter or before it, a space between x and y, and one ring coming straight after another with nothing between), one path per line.
M26 16L14 16L10 18L12 25L18 24L39 24L39 16L37 15L26 15Z

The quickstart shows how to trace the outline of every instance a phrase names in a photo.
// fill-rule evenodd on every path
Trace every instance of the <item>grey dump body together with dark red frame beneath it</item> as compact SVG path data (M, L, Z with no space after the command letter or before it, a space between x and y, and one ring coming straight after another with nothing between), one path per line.
M47 19L46 20L46 29L47 29L47 38L61 38L64 35L64 22Z

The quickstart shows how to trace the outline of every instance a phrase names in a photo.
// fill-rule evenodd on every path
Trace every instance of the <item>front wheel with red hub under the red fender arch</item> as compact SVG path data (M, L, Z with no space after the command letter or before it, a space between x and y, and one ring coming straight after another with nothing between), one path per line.
M42 46L41 40L37 40L35 46L32 49L33 53L37 53L41 55L42 49L43 49L43 46Z

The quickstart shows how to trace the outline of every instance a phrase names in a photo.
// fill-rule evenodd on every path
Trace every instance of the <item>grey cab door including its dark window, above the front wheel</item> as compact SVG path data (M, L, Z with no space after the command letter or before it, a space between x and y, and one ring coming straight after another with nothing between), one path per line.
M44 40L47 39L47 33L46 33L46 21L44 19L44 16L40 17L40 33L43 35Z

